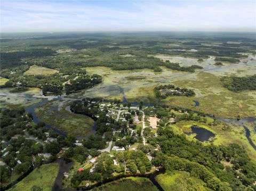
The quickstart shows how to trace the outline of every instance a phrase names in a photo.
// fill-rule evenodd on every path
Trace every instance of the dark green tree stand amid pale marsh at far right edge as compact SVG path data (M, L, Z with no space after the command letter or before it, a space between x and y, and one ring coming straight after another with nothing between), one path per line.
M223 87L232 92L256 90L256 74L249 77L225 76L220 79Z

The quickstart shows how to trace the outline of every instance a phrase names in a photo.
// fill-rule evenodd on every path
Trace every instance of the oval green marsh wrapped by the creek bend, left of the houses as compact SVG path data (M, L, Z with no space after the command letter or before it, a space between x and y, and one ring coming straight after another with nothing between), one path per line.
M66 111L66 106L63 101L53 100L37 107L35 112L42 121L66 134L74 136L90 135L94 121L85 115Z

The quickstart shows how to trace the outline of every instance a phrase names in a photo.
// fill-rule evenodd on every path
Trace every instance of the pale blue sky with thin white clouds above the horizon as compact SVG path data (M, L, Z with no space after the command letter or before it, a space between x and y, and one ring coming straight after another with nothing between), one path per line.
M1 0L1 32L256 31L256 1Z

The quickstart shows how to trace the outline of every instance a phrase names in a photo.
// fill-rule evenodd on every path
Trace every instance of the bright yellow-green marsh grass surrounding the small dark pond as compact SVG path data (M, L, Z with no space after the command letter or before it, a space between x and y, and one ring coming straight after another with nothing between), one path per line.
M208 119L212 120L212 119ZM212 131L215 136L213 138L210 138L209 142L203 142L203 144L210 144L211 142L214 145L228 145L230 143L236 143L238 145L241 145L245 148L247 154L251 157L251 159L256 159L256 151L254 148L250 145L249 141L247 140L245 136L245 131L243 127L237 127L237 126L229 126L228 129L223 130L223 124L218 124L217 126L208 126L206 123L201 122L195 122L195 121L181 121L176 124L170 125L170 127L173 129L173 131L176 134L183 134L183 132L189 132L191 131L190 127L196 125L202 128L205 128L209 131ZM190 140L195 140L194 135L186 135L186 137Z

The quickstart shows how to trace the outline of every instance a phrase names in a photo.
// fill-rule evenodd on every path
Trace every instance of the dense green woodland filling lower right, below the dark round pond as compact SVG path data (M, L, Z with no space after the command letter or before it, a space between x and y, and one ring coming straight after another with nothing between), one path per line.
M169 128L159 128L157 133L158 137L149 139L150 145L161 147L153 164L166 170L188 171L213 190L256 189L256 166L241 146L203 146L198 141L188 141L184 135L175 135ZM221 161L230 162L232 167Z

